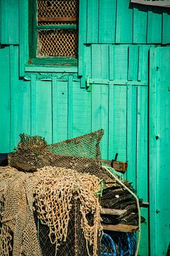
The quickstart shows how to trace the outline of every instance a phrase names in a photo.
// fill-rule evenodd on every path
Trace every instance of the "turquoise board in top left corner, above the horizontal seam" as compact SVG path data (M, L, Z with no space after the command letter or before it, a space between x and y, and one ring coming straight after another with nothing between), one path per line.
M1 1L1 44L19 43L18 0Z

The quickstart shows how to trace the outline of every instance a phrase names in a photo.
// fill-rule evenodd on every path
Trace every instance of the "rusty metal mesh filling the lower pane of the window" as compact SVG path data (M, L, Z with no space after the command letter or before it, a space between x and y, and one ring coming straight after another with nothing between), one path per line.
M38 57L77 57L78 35L74 30L38 31Z

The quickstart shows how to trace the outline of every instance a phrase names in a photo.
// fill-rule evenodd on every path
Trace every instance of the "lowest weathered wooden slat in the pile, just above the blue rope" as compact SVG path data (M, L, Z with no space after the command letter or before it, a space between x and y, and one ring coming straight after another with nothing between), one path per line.
M102 225L103 230L111 230L116 232L135 232L138 229L138 226L135 225L124 225L124 224L117 224L117 225Z

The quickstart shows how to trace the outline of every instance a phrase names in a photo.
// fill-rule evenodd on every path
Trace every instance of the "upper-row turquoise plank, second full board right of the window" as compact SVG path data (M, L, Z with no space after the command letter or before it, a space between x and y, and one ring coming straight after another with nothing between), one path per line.
M115 43L116 0L99 1L98 43Z

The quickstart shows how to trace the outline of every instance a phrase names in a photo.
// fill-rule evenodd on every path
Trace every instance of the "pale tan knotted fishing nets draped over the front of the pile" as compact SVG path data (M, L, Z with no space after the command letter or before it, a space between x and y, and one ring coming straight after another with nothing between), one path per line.
M11 249L14 256L80 256L82 247L84 255L100 255L96 176L48 166L33 173L1 167L0 178L1 256ZM41 247L44 231L47 247Z

